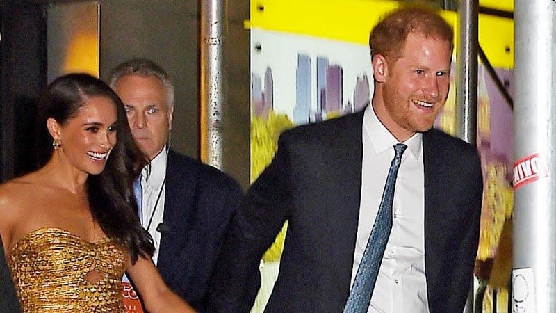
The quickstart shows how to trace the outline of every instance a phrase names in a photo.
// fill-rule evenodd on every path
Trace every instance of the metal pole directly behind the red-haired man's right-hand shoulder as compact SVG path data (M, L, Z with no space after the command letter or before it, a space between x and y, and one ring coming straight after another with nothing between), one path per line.
M479 24L479 1L459 2L457 20L457 135L476 145L477 143L477 47ZM473 282L473 276L469 278ZM464 312L473 313L473 283L467 297Z

